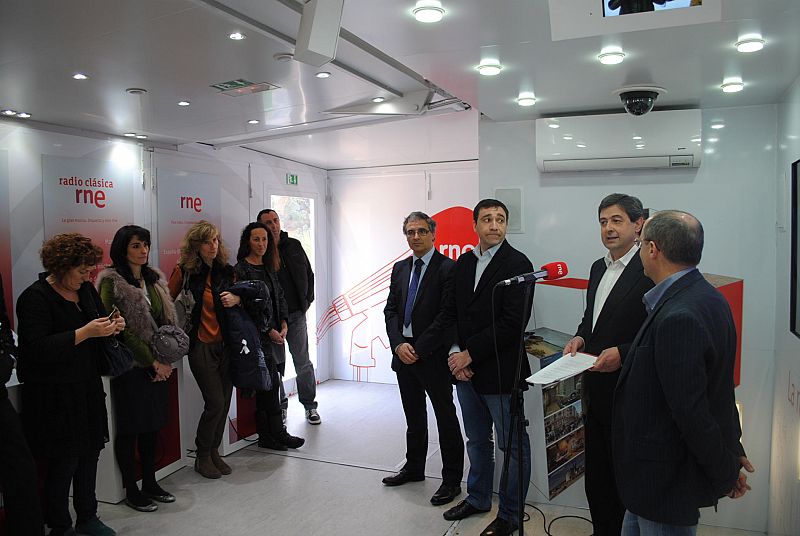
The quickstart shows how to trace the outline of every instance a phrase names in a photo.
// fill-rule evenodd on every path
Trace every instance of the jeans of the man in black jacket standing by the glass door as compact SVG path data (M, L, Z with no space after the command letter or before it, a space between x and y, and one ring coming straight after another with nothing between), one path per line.
M286 344L292 353L294 370L297 373L295 384L297 385L297 398L307 410L317 409L317 378L314 375L314 364L308 355L308 325L306 314L303 311L293 311L289 313L289 320L286 323L289 328L286 332ZM276 363L286 362L286 348L283 344L272 345L273 355ZM289 407L289 401L283 390L283 382L280 382L281 407Z

